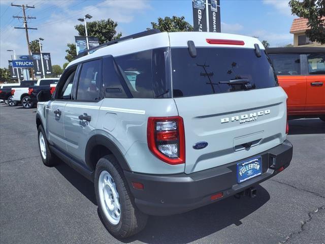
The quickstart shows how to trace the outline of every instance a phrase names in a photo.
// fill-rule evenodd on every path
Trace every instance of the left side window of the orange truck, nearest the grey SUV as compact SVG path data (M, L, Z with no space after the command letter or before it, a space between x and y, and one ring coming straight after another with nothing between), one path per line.
M300 54L270 54L277 75L300 75Z

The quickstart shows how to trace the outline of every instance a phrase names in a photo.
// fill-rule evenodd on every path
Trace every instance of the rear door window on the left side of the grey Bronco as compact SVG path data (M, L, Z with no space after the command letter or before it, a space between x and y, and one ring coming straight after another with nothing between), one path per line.
M96 102L101 93L101 59L83 63L77 89L77 100Z

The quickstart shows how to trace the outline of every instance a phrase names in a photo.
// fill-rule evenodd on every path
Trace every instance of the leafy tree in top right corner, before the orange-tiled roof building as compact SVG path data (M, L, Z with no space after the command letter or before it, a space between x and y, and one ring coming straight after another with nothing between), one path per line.
M291 13L308 19L306 36L312 42L325 44L325 0L291 0Z

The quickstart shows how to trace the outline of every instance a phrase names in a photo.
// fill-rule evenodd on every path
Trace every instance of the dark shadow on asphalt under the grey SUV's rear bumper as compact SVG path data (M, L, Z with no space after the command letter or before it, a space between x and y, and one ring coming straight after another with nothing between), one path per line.
M230 225L241 225L241 219L262 207L270 199L261 186L252 199L229 197L219 202L180 215L149 217L146 228L139 234L121 240L124 243L139 240L145 243L188 243L218 232Z

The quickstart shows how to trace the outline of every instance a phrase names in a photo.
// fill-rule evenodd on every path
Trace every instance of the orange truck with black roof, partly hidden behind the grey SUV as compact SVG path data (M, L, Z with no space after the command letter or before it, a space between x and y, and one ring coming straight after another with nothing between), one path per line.
M279 85L288 95L289 118L325 121L325 48L268 48Z

